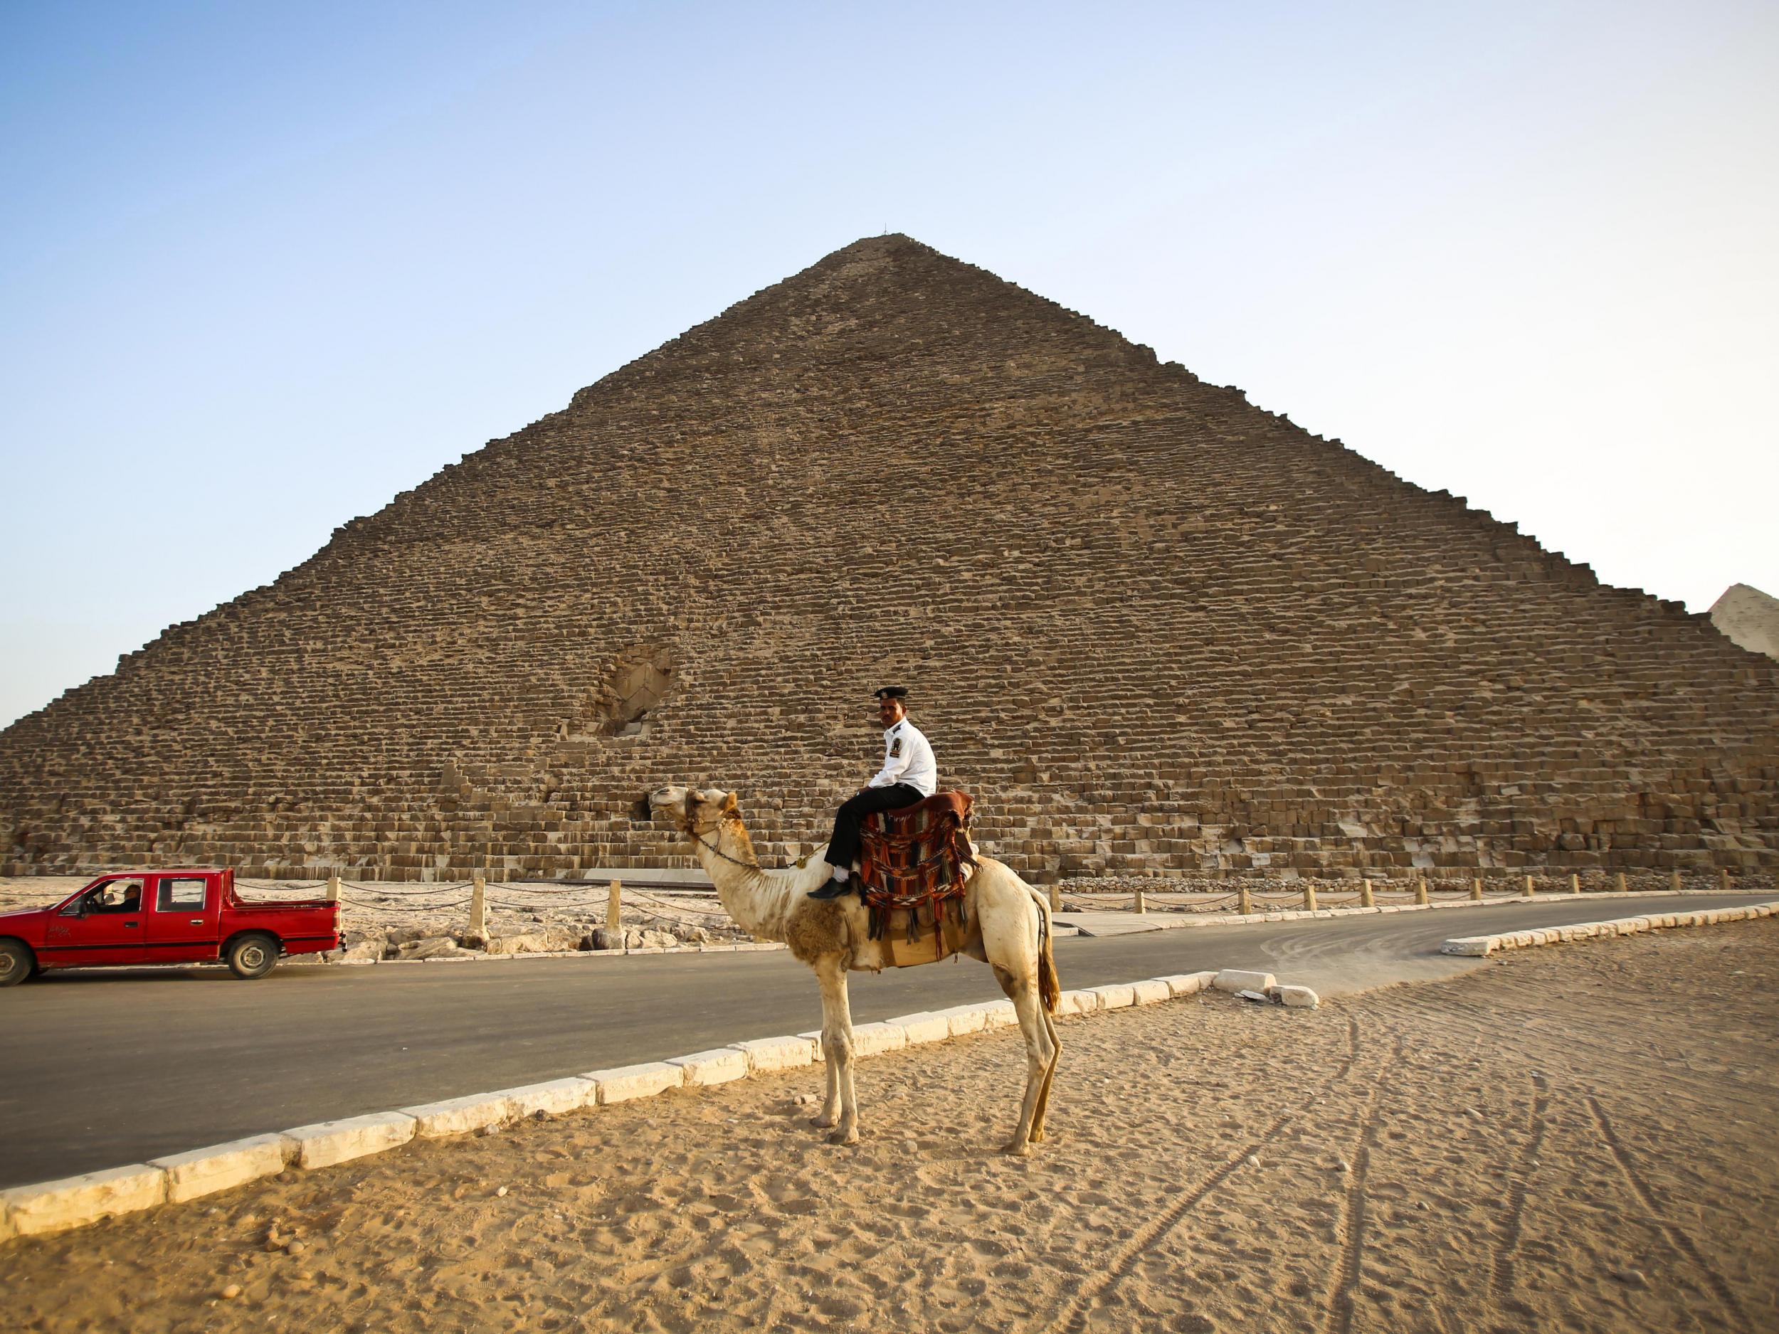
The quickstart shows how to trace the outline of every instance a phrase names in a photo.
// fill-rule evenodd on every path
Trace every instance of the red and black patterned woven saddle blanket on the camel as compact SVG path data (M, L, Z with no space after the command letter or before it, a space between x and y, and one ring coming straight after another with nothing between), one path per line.
M964 880L977 864L970 806L970 793L939 792L898 811L868 815L859 825L859 893L870 912L870 937L884 941L888 962L897 968L929 964L964 946ZM929 930L930 950L920 943Z

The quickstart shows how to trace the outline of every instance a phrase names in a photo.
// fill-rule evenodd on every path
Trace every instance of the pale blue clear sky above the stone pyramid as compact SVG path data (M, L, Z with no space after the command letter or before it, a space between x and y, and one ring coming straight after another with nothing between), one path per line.
M906 231L1779 596L1779 5L0 5L0 724Z

